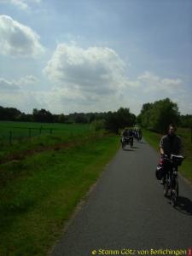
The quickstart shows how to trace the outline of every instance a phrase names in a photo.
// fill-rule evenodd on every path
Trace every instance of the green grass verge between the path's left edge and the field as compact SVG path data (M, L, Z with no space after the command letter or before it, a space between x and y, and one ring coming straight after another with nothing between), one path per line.
M46 255L118 148L100 135L0 165L0 255Z

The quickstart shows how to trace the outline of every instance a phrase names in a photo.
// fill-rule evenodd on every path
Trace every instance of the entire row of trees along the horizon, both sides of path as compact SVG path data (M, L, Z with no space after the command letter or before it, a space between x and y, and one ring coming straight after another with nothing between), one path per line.
M143 104L141 112L136 116L129 108L119 108L114 112L102 113L70 113L53 114L46 109L33 108L32 114L20 112L17 108L0 106L0 120L65 123L65 124L94 124L96 129L106 128L118 133L125 126L140 125L151 131L165 132L167 125L173 123L182 127L192 127L192 115L181 115L177 103L169 98Z

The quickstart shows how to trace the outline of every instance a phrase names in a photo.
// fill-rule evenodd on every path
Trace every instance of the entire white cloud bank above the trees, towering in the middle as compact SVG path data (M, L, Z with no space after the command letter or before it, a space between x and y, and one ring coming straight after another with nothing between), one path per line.
M73 113L125 107L139 113L143 103L170 97L183 113L189 108L182 105L183 92L187 91L182 79L160 77L148 71L129 79L125 68L125 62L113 49L58 44L44 67L44 76L52 83L52 89L49 90L48 83L49 88L42 91L40 86L46 80L40 81L32 75L17 80L0 79L0 105L7 101L7 106L15 105L22 111L31 108L31 112L32 108ZM38 91L33 84L39 84Z

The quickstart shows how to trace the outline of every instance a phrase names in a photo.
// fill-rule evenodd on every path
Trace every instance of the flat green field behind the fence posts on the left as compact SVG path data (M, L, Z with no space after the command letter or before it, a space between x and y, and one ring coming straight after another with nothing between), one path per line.
M10 131L12 131L11 141L9 139ZM3 159L9 158L11 155L19 154L22 156L22 153L26 154L26 152L38 148L51 147L55 144L67 143L70 140L79 140L79 138L90 136L93 132L90 125L1 121L0 162Z

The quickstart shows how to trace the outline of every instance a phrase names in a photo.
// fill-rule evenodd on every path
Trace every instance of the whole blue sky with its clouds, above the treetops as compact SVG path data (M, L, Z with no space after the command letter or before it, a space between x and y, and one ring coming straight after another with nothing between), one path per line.
M191 0L0 0L0 106L192 113Z

